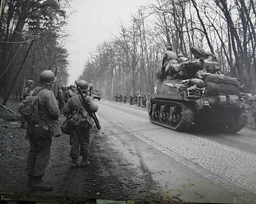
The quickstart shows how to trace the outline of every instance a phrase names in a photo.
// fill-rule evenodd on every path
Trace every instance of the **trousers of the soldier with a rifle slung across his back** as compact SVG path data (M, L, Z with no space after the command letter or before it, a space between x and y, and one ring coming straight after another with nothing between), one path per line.
M71 158L78 158L81 155L87 159L90 150L90 128L82 128L81 126L72 126L72 145L70 151ZM79 152L79 146L81 152Z

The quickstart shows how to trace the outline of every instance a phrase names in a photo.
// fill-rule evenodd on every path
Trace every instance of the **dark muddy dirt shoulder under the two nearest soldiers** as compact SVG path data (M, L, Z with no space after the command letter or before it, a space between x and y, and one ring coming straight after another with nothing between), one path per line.
M64 116L60 118L64 120ZM101 120L102 130L91 130L88 167L71 168L69 136L53 138L51 157L44 181L53 191L35 192L26 187L29 142L19 121L0 120L0 192L14 193L25 200L47 198L159 200L156 184L143 165L140 152L124 149L115 135L118 131ZM122 131L122 130L120 130ZM122 145L122 147L121 147ZM124 156L126 154L126 156ZM129 158L129 159L127 159Z

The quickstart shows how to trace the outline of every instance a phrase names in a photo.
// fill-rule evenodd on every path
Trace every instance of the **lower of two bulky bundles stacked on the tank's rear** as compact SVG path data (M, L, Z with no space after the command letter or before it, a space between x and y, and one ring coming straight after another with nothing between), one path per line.
M240 96L240 90L236 86L231 84L205 81L205 87L207 90L207 94L210 96L218 96L223 94Z

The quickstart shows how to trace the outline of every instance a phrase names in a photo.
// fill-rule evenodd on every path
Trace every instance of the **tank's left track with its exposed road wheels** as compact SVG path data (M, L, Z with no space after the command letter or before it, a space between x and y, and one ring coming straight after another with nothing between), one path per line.
M194 123L195 113L185 103L151 99L149 118L151 123L185 132Z

